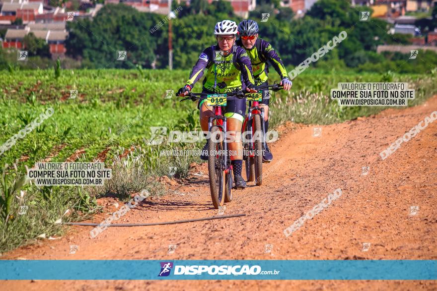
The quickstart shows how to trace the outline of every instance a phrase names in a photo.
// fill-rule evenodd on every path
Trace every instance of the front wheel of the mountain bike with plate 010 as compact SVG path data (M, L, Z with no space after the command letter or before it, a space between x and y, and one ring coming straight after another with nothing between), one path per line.
M226 182L224 180L225 173L223 170L223 159L226 156L223 154L223 141L218 141L220 135L218 126L211 127L211 138L208 143L208 174L210 178L210 191L214 207L223 206ZM216 152L217 151L217 152Z

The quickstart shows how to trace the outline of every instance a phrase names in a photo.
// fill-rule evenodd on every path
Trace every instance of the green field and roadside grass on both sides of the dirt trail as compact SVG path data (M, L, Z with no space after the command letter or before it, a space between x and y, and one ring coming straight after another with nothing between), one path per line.
M291 93L277 92L272 104L273 127L287 120L328 124L358 116L375 114L379 107L340 108L329 99L331 88L338 82L403 81L416 89L417 104L436 94L436 71L427 75L387 73L356 74L339 69L308 69L295 80ZM185 177L194 156L161 156L161 150L201 149L198 143L164 143L147 145L150 126L166 126L170 130L200 130L198 110L191 102L179 102L174 92L184 84L188 70L20 70L0 72L0 143L17 134L36 116L48 108L54 114L33 131L18 138L0 156L0 252L39 237L63 233L59 219L78 221L97 211L96 198L113 195L122 201L146 188L152 195L164 193L156 177ZM276 76L275 76L276 77ZM272 79L274 81L275 78ZM276 79L276 81L278 81ZM77 90L71 95L71 90ZM200 84L194 88L200 90ZM75 98L70 98L75 96ZM110 129L109 129L110 128ZM130 149L130 150L128 150ZM133 151L132 151L133 150ZM77 156L77 159L76 159ZM35 162L61 162L70 158L89 162L106 156L113 178L100 187L36 187L21 186ZM14 165L15 164L15 165ZM4 166L6 165L6 166ZM16 167L16 169L15 169ZM20 215L22 207L27 214Z

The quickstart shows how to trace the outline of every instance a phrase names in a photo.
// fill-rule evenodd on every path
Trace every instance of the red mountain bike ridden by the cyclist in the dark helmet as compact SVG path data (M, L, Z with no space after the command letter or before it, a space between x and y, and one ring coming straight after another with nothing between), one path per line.
M263 153L266 148L264 137L264 109L260 107L263 90L272 89L277 92L283 89L279 84L259 87L257 93L246 93L249 109L243 121L243 161L246 169L246 180L255 181L257 186L263 183Z

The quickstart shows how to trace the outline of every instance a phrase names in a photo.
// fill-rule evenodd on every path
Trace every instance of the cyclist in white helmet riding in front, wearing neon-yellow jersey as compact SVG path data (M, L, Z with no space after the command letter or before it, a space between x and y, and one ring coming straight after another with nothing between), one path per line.
M194 84L202 78L205 68L207 69L203 80L202 93L228 93L245 90L256 92L254 85L252 66L244 49L235 46L235 37L238 27L234 21L223 20L217 22L214 34L217 44L206 48L191 70L190 77L185 86L178 91L179 96L186 96L193 89ZM204 132L208 132L208 118L214 116L211 106L200 100L200 124ZM246 100L228 100L224 109L227 117L227 131L241 135L241 127L246 113ZM206 134L205 134L206 136ZM231 156L236 188L246 187L246 181L241 176L243 157L242 143L229 142L229 150L237 155ZM208 160L208 141L202 150L201 159Z

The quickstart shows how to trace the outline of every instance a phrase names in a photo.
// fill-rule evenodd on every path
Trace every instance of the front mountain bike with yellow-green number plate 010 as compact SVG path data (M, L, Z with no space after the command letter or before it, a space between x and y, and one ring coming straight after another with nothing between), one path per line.
M227 149L226 117L222 115L221 107L226 106L229 98L244 98L242 91L225 94L189 93L185 100L200 100L206 97L205 102L213 107L214 117L208 120L210 139L208 142L208 174L210 180L211 198L214 207L223 206L224 202L232 201L232 165L230 164L230 153Z

